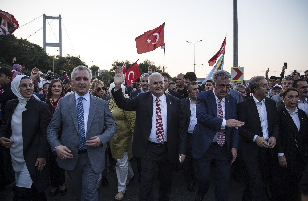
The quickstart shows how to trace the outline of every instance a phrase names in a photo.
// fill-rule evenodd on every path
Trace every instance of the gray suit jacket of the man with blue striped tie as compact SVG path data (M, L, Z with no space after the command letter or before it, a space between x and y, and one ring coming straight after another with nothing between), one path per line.
M60 133L61 129L62 133ZM117 125L110 113L107 101L90 95L86 140L98 136L103 143L99 147L86 146L90 164L96 173L105 169L105 144L115 134L116 129ZM61 135L60 140L59 135ZM51 150L64 145L72 151L72 159L62 160L57 157L57 163L63 169L73 170L77 163L79 141L75 93L60 99L47 128L47 139Z

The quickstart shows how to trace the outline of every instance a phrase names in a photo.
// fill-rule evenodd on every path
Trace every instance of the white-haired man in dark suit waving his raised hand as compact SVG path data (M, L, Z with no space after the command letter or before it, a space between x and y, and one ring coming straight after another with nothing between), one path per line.
M164 78L158 73L148 77L151 92L124 98L120 87L125 80L123 68L115 70L115 87L111 90L117 106L136 110L133 155L141 158L142 178L139 200L154 200L154 178L160 172L158 200L169 200L173 165L185 159L186 133L180 99L164 93Z

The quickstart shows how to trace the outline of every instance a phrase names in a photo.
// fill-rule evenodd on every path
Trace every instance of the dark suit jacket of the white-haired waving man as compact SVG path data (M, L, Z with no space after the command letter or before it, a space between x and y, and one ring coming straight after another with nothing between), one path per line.
M136 110L133 136L133 155L141 157L148 144L152 128L152 92L140 93L133 98L124 98L121 90L111 90L117 106L123 110ZM186 154L184 112L180 99L166 95L167 101L167 146L170 163L178 162L178 154Z

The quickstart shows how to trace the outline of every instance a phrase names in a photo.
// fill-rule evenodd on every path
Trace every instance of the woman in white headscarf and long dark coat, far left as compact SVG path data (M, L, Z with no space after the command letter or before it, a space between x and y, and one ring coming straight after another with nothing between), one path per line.
M15 172L13 200L46 200L44 190L49 186L46 130L51 113L47 104L33 95L33 87L30 77L15 77L11 88L18 99L6 103L6 118L0 127L5 167Z

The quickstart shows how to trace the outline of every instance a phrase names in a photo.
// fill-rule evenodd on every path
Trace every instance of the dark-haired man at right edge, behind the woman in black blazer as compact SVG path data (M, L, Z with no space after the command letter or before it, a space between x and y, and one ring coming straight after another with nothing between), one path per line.
M304 110L308 115L308 84L304 79L294 80L292 87L296 88L299 92L298 108Z

